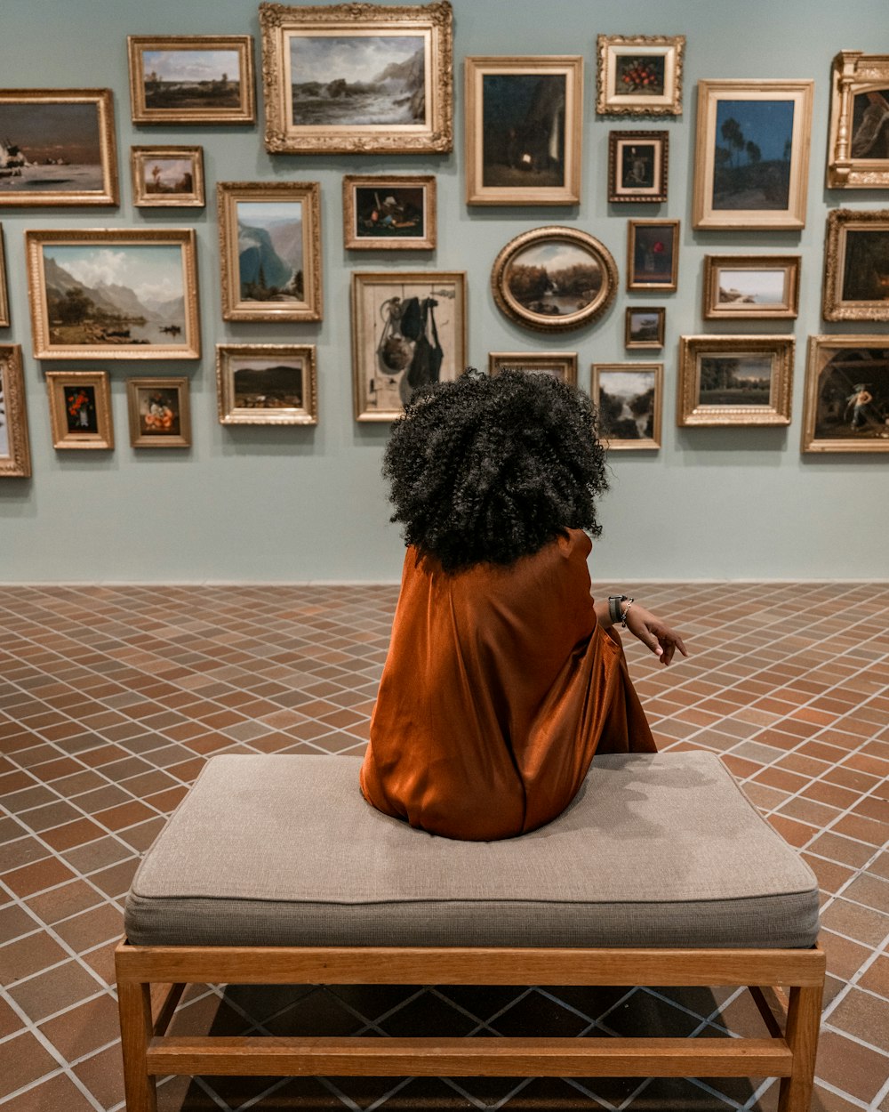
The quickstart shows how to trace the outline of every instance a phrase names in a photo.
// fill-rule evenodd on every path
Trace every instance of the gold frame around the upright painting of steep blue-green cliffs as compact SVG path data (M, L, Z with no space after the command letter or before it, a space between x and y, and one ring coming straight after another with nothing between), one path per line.
M321 289L321 187L317 181L220 181L217 187L219 219L220 278L223 320L320 320L323 311ZM290 300L243 296L240 244L243 237L238 218L239 205L268 205L270 211L287 205L299 208L302 232L302 290ZM297 271L299 274L299 271Z

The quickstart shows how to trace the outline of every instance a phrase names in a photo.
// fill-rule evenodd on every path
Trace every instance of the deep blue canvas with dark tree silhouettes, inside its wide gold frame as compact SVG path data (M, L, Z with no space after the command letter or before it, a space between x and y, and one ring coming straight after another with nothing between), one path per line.
M793 111L792 100L718 100L713 209L789 208Z

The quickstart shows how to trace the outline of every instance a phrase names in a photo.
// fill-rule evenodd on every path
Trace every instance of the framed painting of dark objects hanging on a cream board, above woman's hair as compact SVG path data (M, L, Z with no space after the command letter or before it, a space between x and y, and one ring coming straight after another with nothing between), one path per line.
M465 271L352 274L356 420L394 420L414 390L465 367Z

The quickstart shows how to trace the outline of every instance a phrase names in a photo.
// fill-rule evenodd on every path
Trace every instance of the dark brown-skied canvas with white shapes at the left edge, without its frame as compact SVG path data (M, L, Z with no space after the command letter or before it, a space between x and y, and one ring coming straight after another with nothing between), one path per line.
M104 188L94 100L0 101L0 205L17 193L101 193Z

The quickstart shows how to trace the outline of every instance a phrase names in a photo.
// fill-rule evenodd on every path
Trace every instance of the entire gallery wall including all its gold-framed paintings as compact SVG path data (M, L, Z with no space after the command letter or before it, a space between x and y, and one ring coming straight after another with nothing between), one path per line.
M595 579L885 576L881 0L16 7L0 582L393 579L467 364L598 403Z

